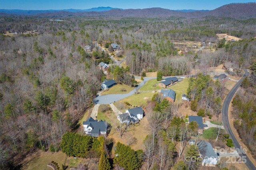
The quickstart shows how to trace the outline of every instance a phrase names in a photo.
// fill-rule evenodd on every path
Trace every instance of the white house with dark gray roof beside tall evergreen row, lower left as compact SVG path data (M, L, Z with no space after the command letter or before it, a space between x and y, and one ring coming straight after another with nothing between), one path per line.
M98 137L100 135L106 135L108 129L108 123L106 121L97 121L92 117L89 117L86 121L83 121L84 133L92 137Z

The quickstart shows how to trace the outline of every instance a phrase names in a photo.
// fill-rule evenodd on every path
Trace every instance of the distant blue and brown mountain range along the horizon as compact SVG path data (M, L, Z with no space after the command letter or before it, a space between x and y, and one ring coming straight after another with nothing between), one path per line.
M163 8L120 9L98 7L87 10L0 10L0 16L6 15L34 15L49 17L66 16L119 16L119 17L186 17L200 18L204 16L256 18L256 3L227 4L214 10L168 10Z

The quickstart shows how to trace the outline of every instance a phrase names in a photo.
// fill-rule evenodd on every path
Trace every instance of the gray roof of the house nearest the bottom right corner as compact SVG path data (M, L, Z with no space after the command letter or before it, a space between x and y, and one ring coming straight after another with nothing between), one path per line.
M197 143L200 154L205 157L217 157L217 153L214 152L212 144L206 141L199 141Z

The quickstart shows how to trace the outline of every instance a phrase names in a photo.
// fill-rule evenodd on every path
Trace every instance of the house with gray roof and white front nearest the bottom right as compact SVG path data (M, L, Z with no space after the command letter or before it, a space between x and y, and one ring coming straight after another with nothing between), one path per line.
M202 166L215 166L218 163L218 155L214 152L212 144L206 141L199 141L197 146L202 157Z

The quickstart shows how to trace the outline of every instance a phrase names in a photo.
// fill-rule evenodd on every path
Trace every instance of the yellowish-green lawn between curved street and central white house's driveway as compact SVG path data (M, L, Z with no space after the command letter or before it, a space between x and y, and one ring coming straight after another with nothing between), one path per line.
M128 102L132 106L146 106L147 102L152 99L153 95L154 93L152 92L133 94L119 102Z

